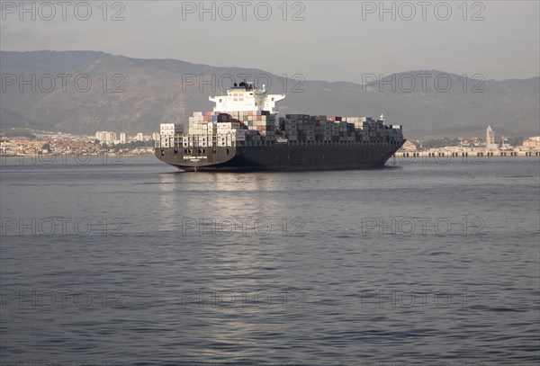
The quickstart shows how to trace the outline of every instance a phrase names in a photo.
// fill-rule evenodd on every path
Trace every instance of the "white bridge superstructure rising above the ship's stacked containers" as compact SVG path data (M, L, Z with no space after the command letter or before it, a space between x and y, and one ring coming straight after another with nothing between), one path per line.
M285 94L266 94L265 85L256 89L253 83L236 83L227 91L226 95L210 96L211 102L216 103L213 112L238 111L268 111L275 114L275 103L285 99Z

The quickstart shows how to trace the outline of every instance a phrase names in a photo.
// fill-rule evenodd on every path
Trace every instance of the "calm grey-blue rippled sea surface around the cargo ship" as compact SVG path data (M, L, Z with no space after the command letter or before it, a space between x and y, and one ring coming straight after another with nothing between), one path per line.
M536 157L111 160L2 161L3 365L540 362Z

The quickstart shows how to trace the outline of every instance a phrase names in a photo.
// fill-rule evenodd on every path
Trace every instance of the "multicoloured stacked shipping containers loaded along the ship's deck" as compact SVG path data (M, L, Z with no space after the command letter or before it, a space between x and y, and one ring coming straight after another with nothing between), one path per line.
M400 125L385 125L384 118L327 117L287 114L276 123L265 111L229 113L194 112L187 129L177 123L161 124L161 147L228 147L275 142L276 129L291 142L401 142ZM184 133L186 130L187 133Z

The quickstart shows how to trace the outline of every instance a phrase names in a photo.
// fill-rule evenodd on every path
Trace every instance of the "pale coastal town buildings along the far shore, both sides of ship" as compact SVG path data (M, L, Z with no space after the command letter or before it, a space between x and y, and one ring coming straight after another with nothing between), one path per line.
M0 156L152 156L159 133L96 131L94 136L40 130L4 129L0 133ZM409 156L540 156L540 136L497 137L488 126L485 138L435 138L408 140L395 154Z

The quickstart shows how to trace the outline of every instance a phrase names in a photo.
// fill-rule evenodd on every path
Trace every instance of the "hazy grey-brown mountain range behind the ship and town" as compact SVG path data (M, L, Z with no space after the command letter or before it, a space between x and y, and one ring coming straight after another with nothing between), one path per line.
M329 67L338 65L336 59ZM287 94L278 104L282 116L383 113L387 123L403 125L406 138L482 137L488 125L505 136L540 135L540 77L496 81L412 70L381 80L365 76L369 83L361 85L284 77L257 68L49 50L0 51L0 69L3 129L150 133L159 123L211 111L209 94L228 88L229 76L240 82L250 75L271 93Z

